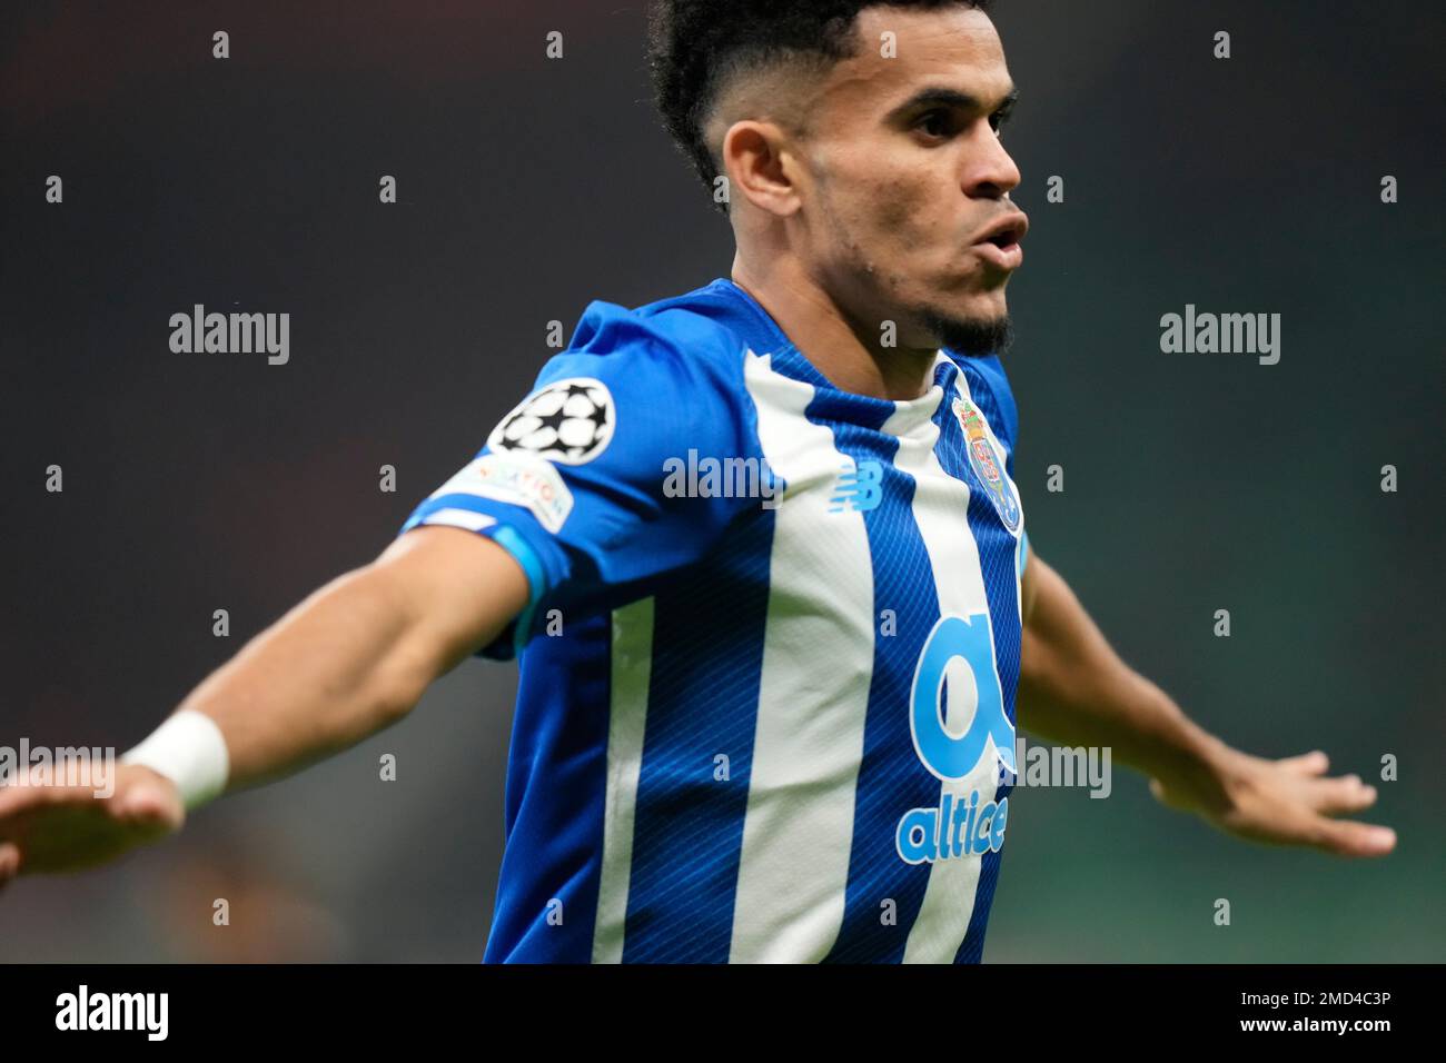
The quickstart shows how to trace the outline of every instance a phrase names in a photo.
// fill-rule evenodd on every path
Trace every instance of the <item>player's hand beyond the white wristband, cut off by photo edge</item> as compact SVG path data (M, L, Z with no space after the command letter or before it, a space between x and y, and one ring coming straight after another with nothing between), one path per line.
M116 765L114 791L48 781L0 787L0 889L32 872L78 871L181 829L175 784L137 764Z

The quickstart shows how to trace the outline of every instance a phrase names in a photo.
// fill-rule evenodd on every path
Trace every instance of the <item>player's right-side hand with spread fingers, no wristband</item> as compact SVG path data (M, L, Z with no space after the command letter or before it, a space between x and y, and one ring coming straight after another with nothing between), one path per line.
M1150 793L1171 808L1197 813L1220 830L1267 845L1306 845L1338 856L1385 856L1390 827L1332 816L1375 804L1375 787L1359 775L1325 778L1319 749L1268 761L1226 749L1213 767L1190 777L1150 780Z

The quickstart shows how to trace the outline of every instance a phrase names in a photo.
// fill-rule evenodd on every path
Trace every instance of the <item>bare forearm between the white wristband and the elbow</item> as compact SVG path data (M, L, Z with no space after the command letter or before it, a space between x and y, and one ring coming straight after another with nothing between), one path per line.
M217 722L239 790L338 752L403 716L431 675L405 599L376 567L312 593L182 703Z

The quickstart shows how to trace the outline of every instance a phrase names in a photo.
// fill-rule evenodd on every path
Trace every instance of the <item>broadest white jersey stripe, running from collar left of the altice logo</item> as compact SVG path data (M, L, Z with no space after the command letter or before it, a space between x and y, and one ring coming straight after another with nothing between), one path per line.
M813 386L750 350L743 379L763 457L787 490L774 511L729 960L807 963L829 953L843 924L873 675L873 564L863 513L827 512L829 484L850 460L831 428L804 417Z

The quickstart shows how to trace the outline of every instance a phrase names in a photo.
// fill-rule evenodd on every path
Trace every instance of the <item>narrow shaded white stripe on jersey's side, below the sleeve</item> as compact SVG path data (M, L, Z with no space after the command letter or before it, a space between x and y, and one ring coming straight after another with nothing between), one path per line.
M607 798L597 884L593 963L622 963L632 871L633 816L652 678L652 599L613 610L612 712L607 720Z

